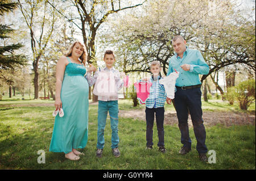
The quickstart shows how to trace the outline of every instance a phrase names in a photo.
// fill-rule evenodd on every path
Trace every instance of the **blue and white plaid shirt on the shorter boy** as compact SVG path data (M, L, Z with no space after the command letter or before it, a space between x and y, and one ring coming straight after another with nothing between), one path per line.
M162 77L160 79L162 79ZM150 87L150 96L146 100L146 107L164 107L164 103L166 102L166 90L164 89L164 85L159 83L159 77L157 81L154 81L151 77L150 82L152 86Z

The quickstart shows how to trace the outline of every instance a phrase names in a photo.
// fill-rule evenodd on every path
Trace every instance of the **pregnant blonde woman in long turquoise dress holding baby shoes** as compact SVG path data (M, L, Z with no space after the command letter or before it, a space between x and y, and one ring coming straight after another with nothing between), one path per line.
M64 116L55 117L49 151L64 152L65 158L80 159L78 148L88 141L88 92L84 44L76 41L56 65L56 111L63 109Z

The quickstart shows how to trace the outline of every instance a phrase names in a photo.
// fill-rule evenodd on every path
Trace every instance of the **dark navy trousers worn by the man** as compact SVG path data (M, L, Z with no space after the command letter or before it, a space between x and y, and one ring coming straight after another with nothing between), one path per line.
M189 137L188 130L189 110L197 141L196 150L199 153L207 153L208 150L205 145L206 132L202 119L201 94L200 88L182 90L177 87L174 100L177 118L179 120L181 143L184 147L191 149L191 138Z

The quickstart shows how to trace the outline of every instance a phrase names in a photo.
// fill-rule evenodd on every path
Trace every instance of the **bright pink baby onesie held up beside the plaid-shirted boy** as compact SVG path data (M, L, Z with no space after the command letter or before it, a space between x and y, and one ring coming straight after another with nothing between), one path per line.
M135 82L134 86L137 92L137 99L139 100L139 104L145 104L147 98L150 95L150 87L152 83L149 81L146 82Z

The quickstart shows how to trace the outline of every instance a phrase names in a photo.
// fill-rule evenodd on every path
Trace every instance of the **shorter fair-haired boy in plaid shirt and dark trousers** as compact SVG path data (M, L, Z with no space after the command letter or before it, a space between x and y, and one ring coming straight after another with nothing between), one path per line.
M146 140L147 140L147 148L152 149L153 146L153 126L154 126L154 117L156 117L156 127L158 129L158 147L159 151L162 153L166 152L166 148L164 148L164 103L166 102L166 91L164 90L164 85L160 85L159 73L162 70L160 68L159 61L151 62L151 73L153 74L150 78L150 82L152 86L150 87L150 95L146 100Z

